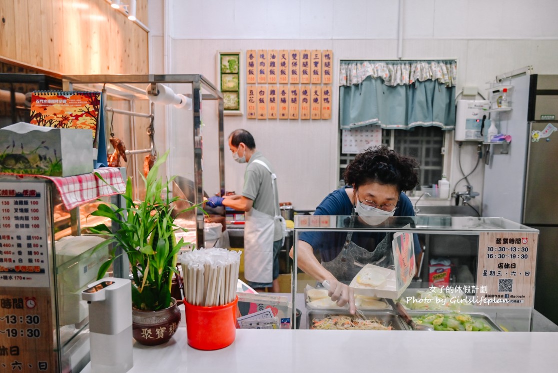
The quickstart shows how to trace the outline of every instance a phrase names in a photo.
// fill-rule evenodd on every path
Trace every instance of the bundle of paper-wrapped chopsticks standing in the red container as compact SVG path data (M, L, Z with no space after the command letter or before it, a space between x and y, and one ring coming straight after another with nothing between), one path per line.
M233 302L237 296L240 254L216 247L181 254L186 302L203 307Z

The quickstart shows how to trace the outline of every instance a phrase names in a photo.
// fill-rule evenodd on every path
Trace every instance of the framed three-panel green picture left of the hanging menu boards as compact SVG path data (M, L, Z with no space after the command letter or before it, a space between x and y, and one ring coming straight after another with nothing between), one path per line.
M217 84L223 93L225 116L242 115L244 89L240 51L218 51L217 52Z

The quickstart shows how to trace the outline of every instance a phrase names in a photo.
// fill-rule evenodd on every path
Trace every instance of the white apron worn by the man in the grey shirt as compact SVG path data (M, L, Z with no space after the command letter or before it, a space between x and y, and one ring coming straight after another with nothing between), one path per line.
M261 160L254 160L271 170ZM277 176L271 173L271 185L273 198L275 199L275 179ZM278 206L278 202L274 201ZM278 212L276 212L276 215ZM275 219L271 215L251 208L246 212L246 224L244 224L244 277L254 283L270 284L273 281L273 233L275 232Z

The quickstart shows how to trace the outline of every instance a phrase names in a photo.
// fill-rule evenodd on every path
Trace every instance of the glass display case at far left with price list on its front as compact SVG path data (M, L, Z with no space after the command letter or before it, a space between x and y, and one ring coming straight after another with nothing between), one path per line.
M116 203L119 196L103 198ZM4 367L80 371L89 362L89 309L81 291L97 279L108 250L93 249L103 237L72 235L79 232L79 208L67 211L50 180L0 175L0 345L9 346L0 356Z

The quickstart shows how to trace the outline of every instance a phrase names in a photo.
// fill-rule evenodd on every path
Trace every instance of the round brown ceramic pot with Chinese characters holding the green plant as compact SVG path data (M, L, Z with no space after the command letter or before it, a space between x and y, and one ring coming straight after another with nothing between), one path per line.
M132 308L132 334L142 345L161 345L171 339L180 323L180 310L171 298L169 308L146 311Z

